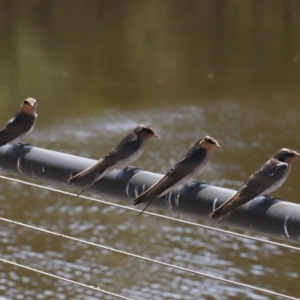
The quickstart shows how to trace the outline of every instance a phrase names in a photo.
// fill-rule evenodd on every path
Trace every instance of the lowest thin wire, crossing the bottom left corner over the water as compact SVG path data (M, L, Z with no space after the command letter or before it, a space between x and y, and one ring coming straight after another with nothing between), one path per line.
M41 271L41 270L38 270L38 269L35 269L35 268L31 268L31 267L22 265L22 264L18 264L16 262L9 261L9 260L3 259L3 258L0 258L0 261L2 261L3 263L6 263L6 264L10 264L10 265L13 265L13 266L16 266L16 267L20 267L20 268L23 268L23 269L26 269L26 270L36 272L36 273L39 273L39 274L43 274L43 275L46 275L46 276L49 276L49 277L52 277L52 278L55 278L55 279L60 279L60 280L63 280L63 281L67 281L69 283L73 283L73 284L82 286L84 288L87 288L87 289L90 289L90 290L93 290L93 291L97 291L97 292L101 292L103 294L114 296L114 297L117 297L119 299L133 300L132 298L128 298L128 297L124 297L122 295L118 295L118 294L115 294L115 293L112 293L112 292L108 292L108 291L103 290L99 287L94 287L94 286L91 286L91 285L80 283L80 282L77 282L77 281L74 281L74 280L71 280L71 279L67 279L67 278L64 278L64 277L61 277L61 276L58 276L58 275L55 275L55 274L51 274L51 273L48 273L48 272L44 272L44 271Z

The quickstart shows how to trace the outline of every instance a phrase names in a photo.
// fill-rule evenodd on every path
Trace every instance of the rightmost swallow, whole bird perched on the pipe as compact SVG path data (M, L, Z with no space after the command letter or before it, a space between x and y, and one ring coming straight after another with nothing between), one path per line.
M214 226L218 226L235 209L253 198L266 196L278 189L287 179L291 164L298 156L300 154L295 150L287 148L278 150L271 159L245 181L235 195L208 215L209 218L219 218Z

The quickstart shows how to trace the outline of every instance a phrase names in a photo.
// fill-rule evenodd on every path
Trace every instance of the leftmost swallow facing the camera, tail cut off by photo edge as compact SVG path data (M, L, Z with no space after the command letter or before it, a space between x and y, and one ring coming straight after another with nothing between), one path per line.
M22 102L15 116L0 129L0 147L17 143L33 130L37 118L36 108L37 101L33 98L26 98Z

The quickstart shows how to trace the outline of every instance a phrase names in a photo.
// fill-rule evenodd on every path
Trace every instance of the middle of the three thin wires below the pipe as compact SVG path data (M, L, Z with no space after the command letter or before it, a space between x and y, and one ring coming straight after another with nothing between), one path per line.
M80 242L82 244L94 246L94 247L97 247L97 248L100 248L100 249L109 250L109 251L112 251L112 252L115 252L115 253L127 255L127 256L134 257L134 258L137 258L137 259L141 259L141 260L144 260L144 261L147 261L147 262L151 262L151 263L155 263L155 264L162 265L162 266L165 266L165 267L173 268L173 269L176 269L176 270L179 270L179 271L184 271L184 272L191 273L191 274L194 274L194 275L200 275L200 276L207 277L207 278L210 278L210 279L219 280L219 281L229 283L229 284L232 284L232 285L235 285L235 286L248 288L248 289L251 289L251 290L254 290L254 291L257 291L257 292L261 292L261 293L265 293L265 294L268 294L268 295L272 295L272 296L276 296L276 297L282 297L284 299L289 299L289 300L299 300L299 298L294 298L294 297L287 296L287 295L284 295L284 294L276 293L276 292L273 292L273 291L270 291L270 290L267 290L267 289L264 289L264 288L259 288L259 287L252 286L250 284L239 283L239 282L236 282L236 281L233 281L233 280L224 279L224 278L214 276L214 275L209 275L209 274L206 274L206 273L203 273L203 272L199 272L199 271L191 270L191 269L188 269L188 268L176 266L176 265L169 264L169 263L159 261L159 260L156 260L156 259L152 259L152 258L148 258L148 257L141 256L141 255L138 255L138 254L130 253L130 252L127 252L127 251L118 250L118 249L115 249L115 248L112 248L112 247L109 247L109 246L100 245L100 244L96 244L96 243L93 243L93 242L88 242L88 241L85 241L85 240L82 240L82 239L74 238L72 236L68 236L68 235L65 235L65 234L60 234L60 233L50 231L50 230L47 230L47 229L38 228L38 227L28 225L28 224L24 224L24 223L21 223L21 222L9 220L9 219L2 218L2 217L0 217L0 220L5 221L5 222L9 222L9 223L13 223L13 224L16 224L16 225L19 225L19 226L27 227L27 228L30 228L30 229L33 229L33 230L41 231L41 232L51 234L51 235L54 235L54 236L58 236L58 237L66 238L66 239L73 240L73 241L76 241L76 242ZM1 260L2 259L0 259L0 261ZM28 267L26 267L26 268L28 268ZM39 272L42 273L42 271L39 271ZM43 272L43 274L45 274L45 272ZM52 277L54 277L54 276L55 275L52 275ZM67 281L68 281L68 279L67 279ZM124 299L128 299L128 298L124 298Z

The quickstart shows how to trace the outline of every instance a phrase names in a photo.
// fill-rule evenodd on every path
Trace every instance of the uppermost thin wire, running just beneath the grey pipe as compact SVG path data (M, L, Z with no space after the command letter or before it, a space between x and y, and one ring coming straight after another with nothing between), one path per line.
M9 181L18 182L18 183L25 184L25 185L29 185L29 186L33 186L33 187L37 187L37 188L40 188L40 189L45 189L45 190L48 190L48 191L68 195L68 196L77 197L77 194L74 194L74 193L70 193L70 192L58 190L58 189L55 189L55 188L51 188L51 187L47 187L47 186L43 186L43 185L39 185L39 184L27 182L27 181L23 181L23 180L20 180L20 179L10 178L10 177L1 176L1 175L0 175L0 178L5 179L5 180L9 180ZM117 207L117 208L122 208L122 209L125 209L125 210L140 212L139 209L124 206L124 205L120 205L120 204L116 204L116 203L112 203L112 202L108 202L108 201L105 201L105 200L99 200L99 199L96 199L96 198L82 196L82 195L80 196L80 198L90 200L90 201L94 201L94 202L98 202L98 203L102 203L102 204L106 204L106 205L110 205L110 206L114 206L114 207ZM145 211L144 213L149 215L149 216L158 217L158 218L162 218L162 219L169 220L169 221L175 221L175 222L186 224L186 225L196 226L198 228L212 230L212 231L222 233L222 234L228 234L228 235L231 235L231 236L236 237L236 238L246 238L246 239L249 239L249 240L262 242L262 243L266 243L266 244L270 244L270 245L274 245L274 246L278 246L278 247L283 247L283 248L287 248L287 249L290 249L290 250L300 251L300 247L296 247L296 246L286 245L286 244L282 244L282 243L278 243L278 242L274 242L274 241L261 239L261 238L258 238L258 237L253 237L253 236L248 236L248 235L244 235L244 234L241 234L241 233L227 231L227 230L220 229L220 228L210 227L210 226L207 226L207 225L197 224L197 223L186 221L186 220L176 219L176 218L173 218L173 217L156 214L156 213L152 213L152 212L149 212L149 211Z

